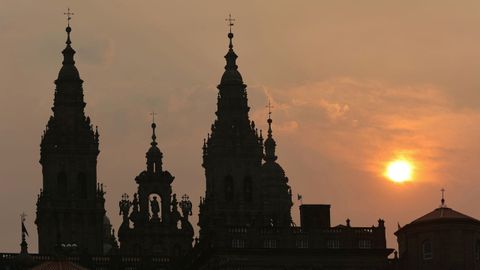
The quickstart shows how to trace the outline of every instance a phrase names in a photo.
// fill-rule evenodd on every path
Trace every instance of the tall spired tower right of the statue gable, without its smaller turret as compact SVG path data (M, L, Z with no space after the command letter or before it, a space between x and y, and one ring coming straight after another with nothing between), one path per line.
M227 20L232 26L233 19ZM229 228L262 222L263 139L248 116L247 86L236 64L231 29L228 39L217 118L203 146L206 192L200 202L200 240L216 247L231 245L225 237Z

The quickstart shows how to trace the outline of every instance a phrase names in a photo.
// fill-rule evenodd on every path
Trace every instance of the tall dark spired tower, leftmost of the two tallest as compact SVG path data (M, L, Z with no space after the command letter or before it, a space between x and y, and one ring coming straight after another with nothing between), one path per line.
M69 18L70 19L70 18ZM43 189L37 201L39 253L59 244L101 254L105 217L103 187L97 183L98 131L85 116L82 79L75 67L70 24L55 99L41 140Z

